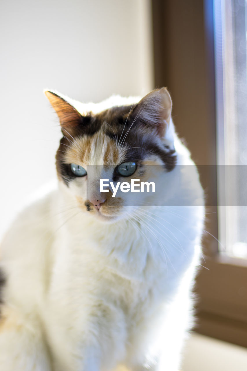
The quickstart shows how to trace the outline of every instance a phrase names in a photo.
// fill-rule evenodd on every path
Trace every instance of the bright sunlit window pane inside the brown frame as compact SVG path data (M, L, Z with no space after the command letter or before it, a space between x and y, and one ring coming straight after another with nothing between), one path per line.
M245 0L214 1L220 251L247 259ZM221 174L220 174L221 173Z

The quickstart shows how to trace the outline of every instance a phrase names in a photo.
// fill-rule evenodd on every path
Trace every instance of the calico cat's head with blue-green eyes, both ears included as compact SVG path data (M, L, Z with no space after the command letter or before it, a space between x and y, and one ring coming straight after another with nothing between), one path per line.
M99 104L82 104L57 92L45 94L63 134L56 154L59 181L85 213L105 221L129 216L136 193L123 191L112 197L110 182L113 187L118 182L131 184L132 178L150 182L174 169L172 102L167 89L156 89L137 103L112 97ZM108 179L109 187L101 188L101 179Z

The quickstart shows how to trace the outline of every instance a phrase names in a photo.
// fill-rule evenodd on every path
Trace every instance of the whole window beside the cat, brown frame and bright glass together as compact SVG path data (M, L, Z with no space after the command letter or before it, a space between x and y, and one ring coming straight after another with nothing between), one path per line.
M178 134L210 168L200 174L207 269L196 331L247 347L246 2L153 0L152 10L155 85L168 86Z

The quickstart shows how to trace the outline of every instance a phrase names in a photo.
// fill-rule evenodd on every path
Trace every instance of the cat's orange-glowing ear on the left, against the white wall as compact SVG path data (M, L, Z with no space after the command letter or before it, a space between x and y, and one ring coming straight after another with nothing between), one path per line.
M66 98L51 90L45 90L44 93L55 109L62 129L70 131L82 122L82 116L72 104L67 102Z

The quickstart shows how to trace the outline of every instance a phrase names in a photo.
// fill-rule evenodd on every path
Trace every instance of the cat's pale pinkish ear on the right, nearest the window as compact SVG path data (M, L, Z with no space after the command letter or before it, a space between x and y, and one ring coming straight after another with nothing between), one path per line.
M155 128L158 135L165 137L171 120L172 100L166 88L155 89L147 94L135 107L139 120Z

